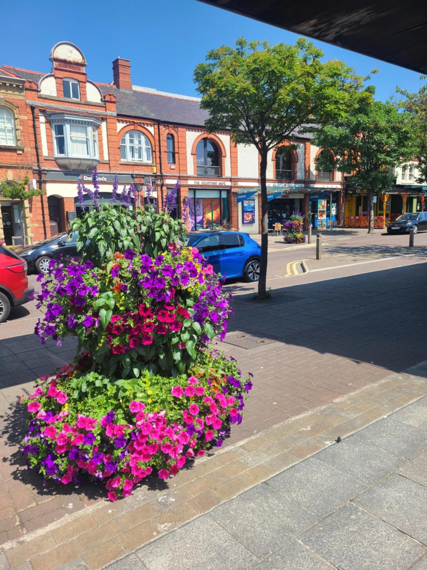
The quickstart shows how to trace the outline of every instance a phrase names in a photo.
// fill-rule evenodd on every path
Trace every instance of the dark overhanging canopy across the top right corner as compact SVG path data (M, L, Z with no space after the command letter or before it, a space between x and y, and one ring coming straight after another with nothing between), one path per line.
M200 0L427 74L425 0Z

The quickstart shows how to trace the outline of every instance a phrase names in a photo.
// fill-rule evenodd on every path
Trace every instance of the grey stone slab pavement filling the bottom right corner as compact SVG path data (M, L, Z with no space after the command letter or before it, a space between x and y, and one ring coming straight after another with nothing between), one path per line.
M427 397L109 570L427 568Z

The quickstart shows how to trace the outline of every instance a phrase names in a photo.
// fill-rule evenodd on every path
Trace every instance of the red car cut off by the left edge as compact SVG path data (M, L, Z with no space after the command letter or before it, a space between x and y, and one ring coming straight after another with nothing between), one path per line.
M34 291L28 284L27 262L0 241L0 323L9 316L10 307L23 305Z

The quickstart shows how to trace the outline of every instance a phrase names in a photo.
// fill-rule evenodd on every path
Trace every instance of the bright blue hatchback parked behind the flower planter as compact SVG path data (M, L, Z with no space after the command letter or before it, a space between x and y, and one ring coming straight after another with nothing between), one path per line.
M216 273L227 279L260 278L261 246L248 234L238 231L197 231L187 234L186 246L197 247Z

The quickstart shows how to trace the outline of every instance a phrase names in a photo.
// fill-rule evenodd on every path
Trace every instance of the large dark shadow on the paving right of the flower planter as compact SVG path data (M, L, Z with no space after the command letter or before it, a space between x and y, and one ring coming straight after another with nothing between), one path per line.
M261 302L236 285L228 333L252 330L284 337L275 345L284 356L286 346L294 345L400 372L427 359L426 281L427 264L420 263L294 284L275 289L272 299Z

